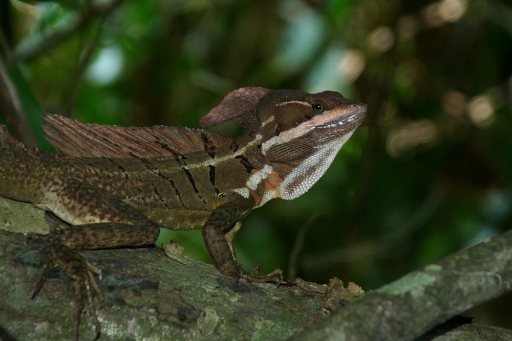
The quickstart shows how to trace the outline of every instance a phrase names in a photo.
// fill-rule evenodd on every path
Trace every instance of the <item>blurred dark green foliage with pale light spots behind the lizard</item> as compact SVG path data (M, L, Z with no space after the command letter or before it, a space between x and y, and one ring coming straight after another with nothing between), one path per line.
M41 108L91 123L198 127L225 94L249 85L337 90L369 105L308 193L245 219L235 240L244 267L287 269L295 247L298 276L371 289L509 228L511 5L132 0L105 10L109 3L0 6L2 57L44 149ZM44 43L79 18L65 39ZM38 45L41 53L24 57ZM217 131L245 133L232 122ZM199 231L169 236L209 261ZM503 300L470 314L512 328L512 298Z

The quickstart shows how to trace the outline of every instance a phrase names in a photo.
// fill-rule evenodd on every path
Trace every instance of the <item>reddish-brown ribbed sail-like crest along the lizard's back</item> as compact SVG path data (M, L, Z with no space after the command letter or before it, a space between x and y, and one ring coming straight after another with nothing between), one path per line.
M121 127L81 123L50 112L43 116L45 138L57 151L75 157L163 157L209 151L232 142L222 135L184 127Z

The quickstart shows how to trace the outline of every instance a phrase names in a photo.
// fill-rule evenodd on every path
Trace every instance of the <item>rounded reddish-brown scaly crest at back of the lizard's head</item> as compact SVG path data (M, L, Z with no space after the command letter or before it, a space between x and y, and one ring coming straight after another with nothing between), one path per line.
M201 128L206 129L234 120L245 128L258 131L261 128L261 122L256 115L258 104L271 92L272 90L259 86L234 90L227 94L218 106L211 109L199 124Z

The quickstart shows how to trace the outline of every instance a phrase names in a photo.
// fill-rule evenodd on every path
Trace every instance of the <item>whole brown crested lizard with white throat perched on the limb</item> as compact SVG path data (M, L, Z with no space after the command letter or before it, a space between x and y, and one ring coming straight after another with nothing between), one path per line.
M75 285L74 339L84 302L99 337L92 291L103 301L94 278L100 270L75 250L151 245L159 226L202 229L222 274L279 283L280 269L259 275L258 266L246 271L237 263L232 241L241 219L272 198L305 193L366 111L331 91L245 87L200 121L209 128L234 120L251 130L237 139L183 127L84 124L48 113L46 138L60 154L25 147L0 125L0 195L74 225L48 237L48 264L34 295L60 267Z

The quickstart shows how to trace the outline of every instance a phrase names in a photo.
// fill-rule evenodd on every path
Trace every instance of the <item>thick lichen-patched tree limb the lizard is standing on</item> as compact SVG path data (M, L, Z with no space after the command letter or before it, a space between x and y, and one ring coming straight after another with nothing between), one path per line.
M23 233L47 225L44 213L31 204L0 197L2 340L69 340L72 336L74 289L62 271L53 270L30 300L46 261L45 238ZM166 249L82 254L103 272L99 284L105 307L97 311L100 340L286 339L364 294L356 285L344 289L337 279L329 286L304 281L279 288L245 280L237 284L214 266L182 256L176 244ZM80 339L93 337L92 320L84 312Z

